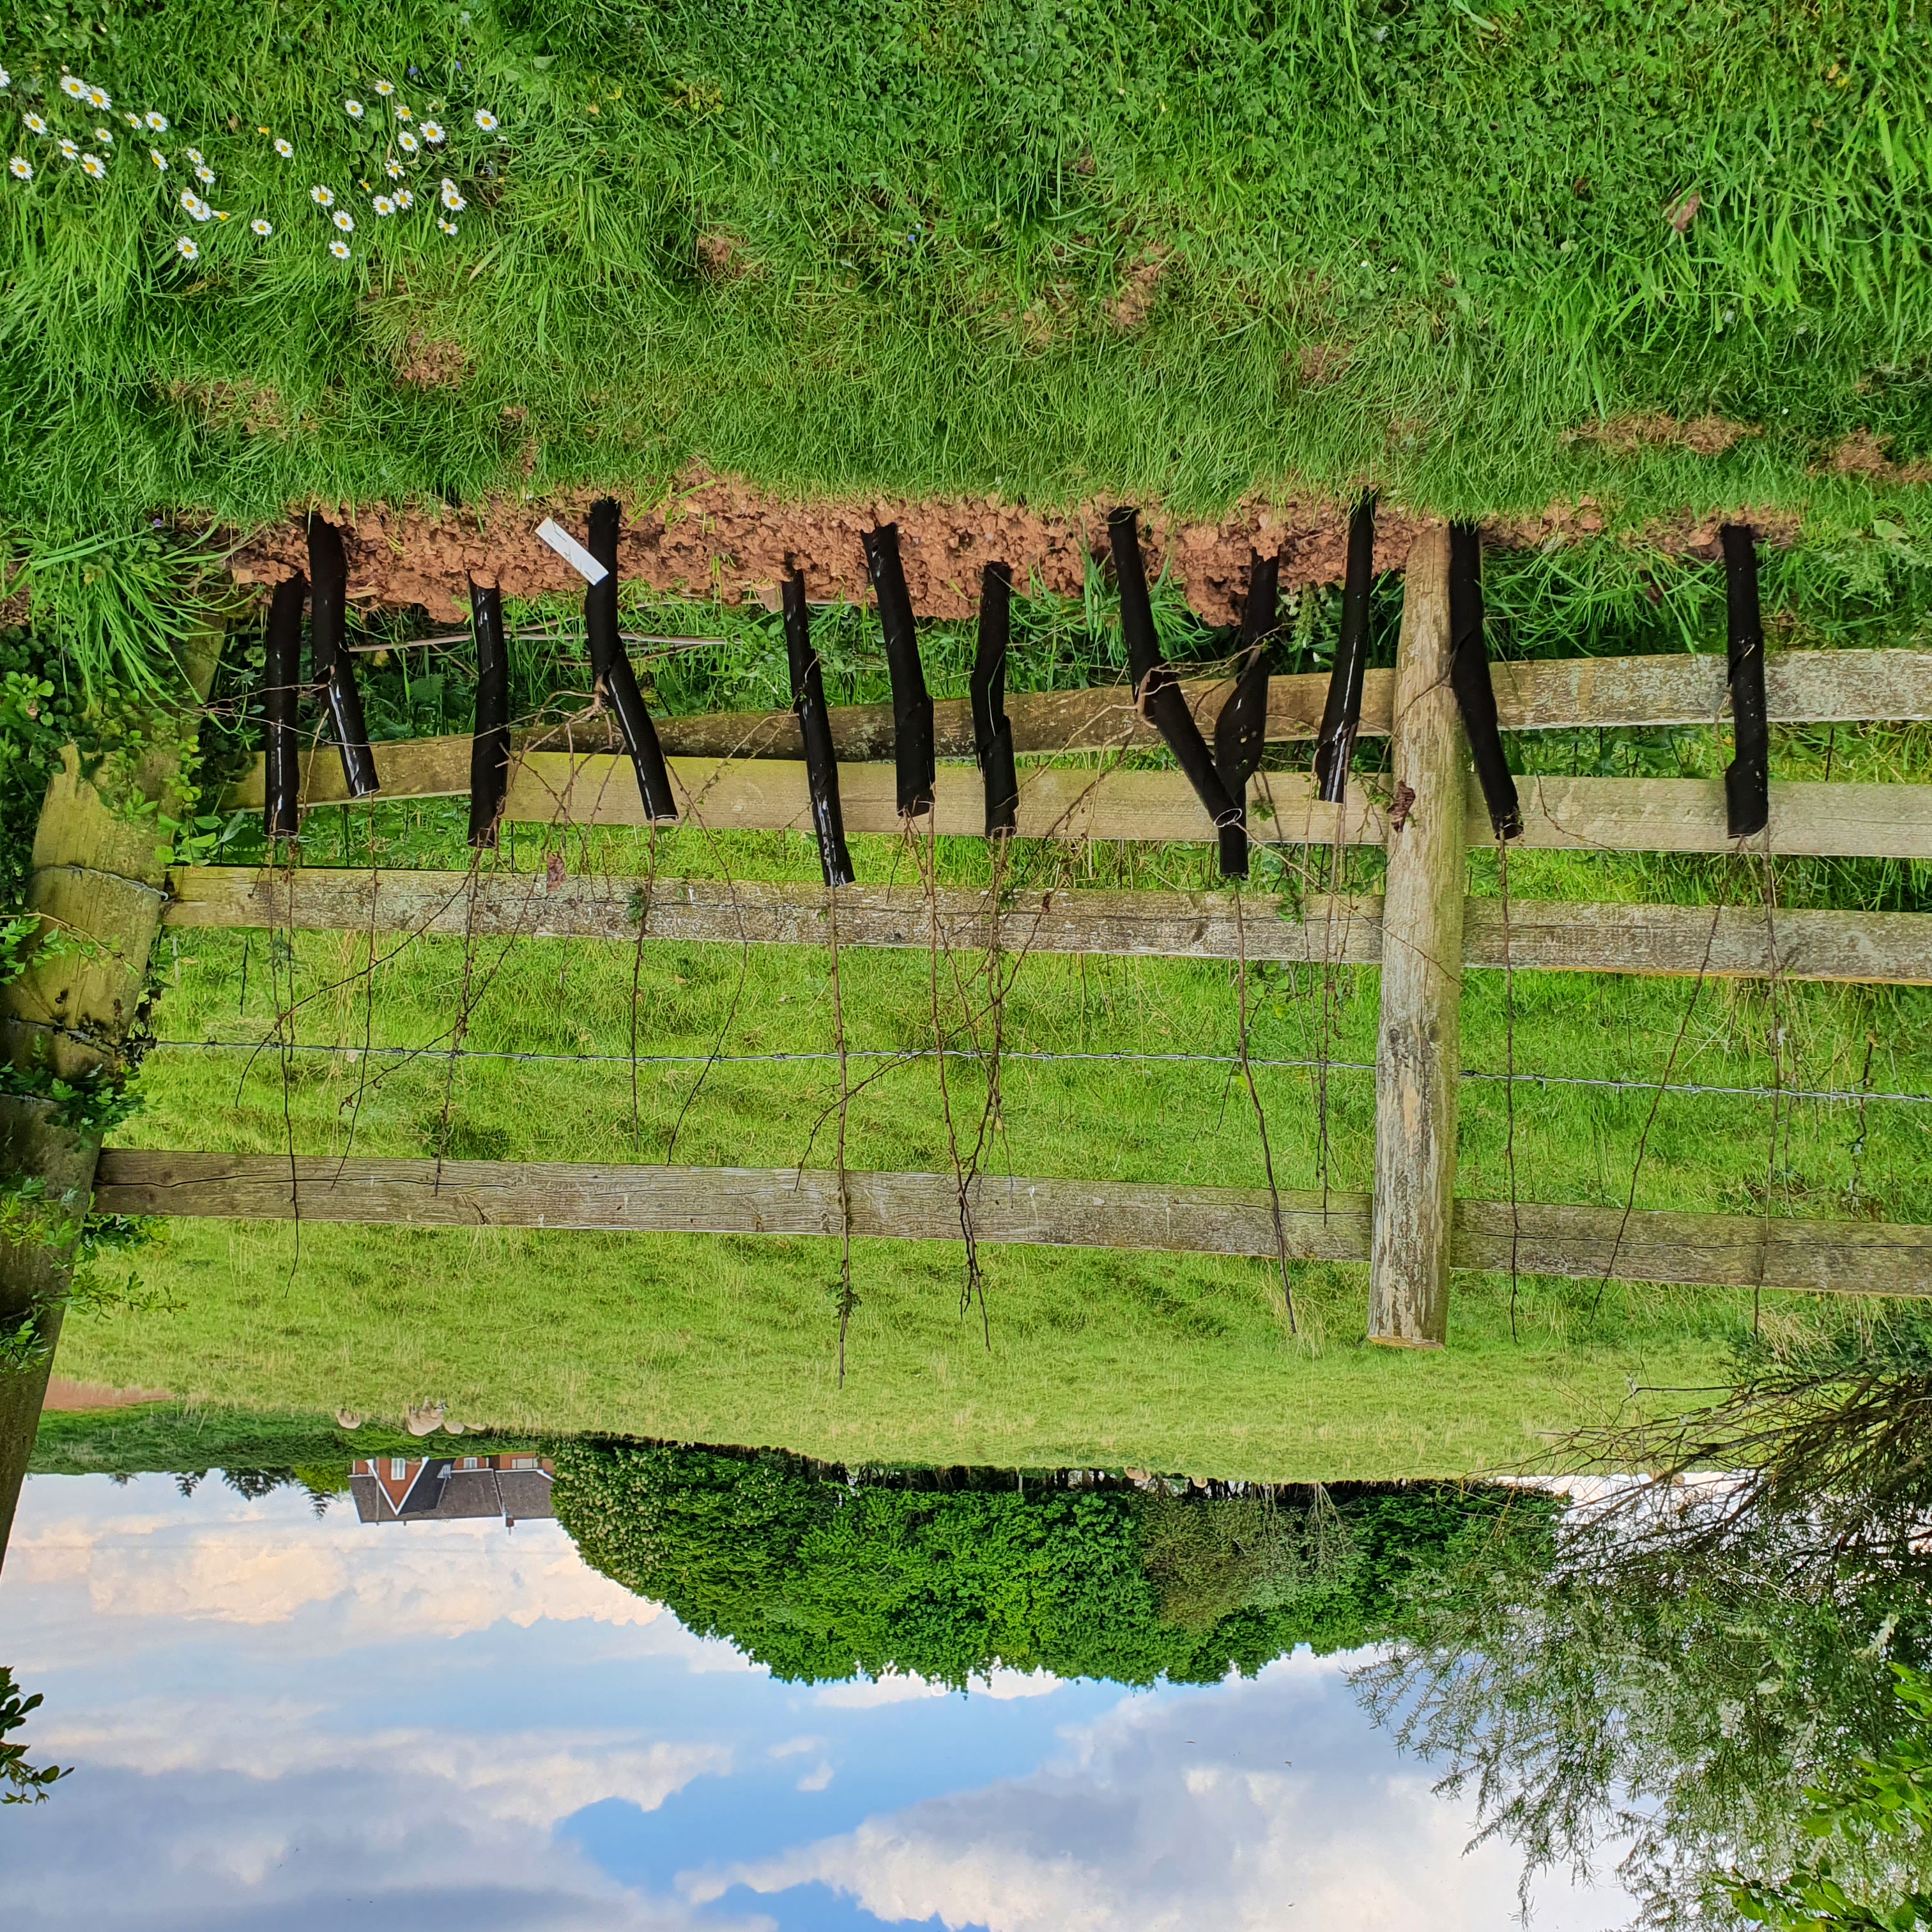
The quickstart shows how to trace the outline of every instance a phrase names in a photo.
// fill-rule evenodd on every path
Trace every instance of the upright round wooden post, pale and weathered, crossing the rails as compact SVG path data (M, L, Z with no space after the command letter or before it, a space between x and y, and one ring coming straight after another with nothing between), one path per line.
M1422 531L1408 553L1391 723L1368 1339L1439 1349L1449 1335L1466 864L1445 526Z

